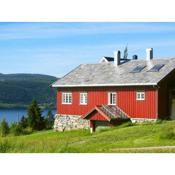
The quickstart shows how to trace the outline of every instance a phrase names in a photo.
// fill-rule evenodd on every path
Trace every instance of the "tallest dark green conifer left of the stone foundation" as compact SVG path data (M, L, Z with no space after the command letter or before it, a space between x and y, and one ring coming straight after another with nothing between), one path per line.
M36 100L29 105L28 110L28 126L33 130L41 130L44 128L44 118L41 116L41 109Z

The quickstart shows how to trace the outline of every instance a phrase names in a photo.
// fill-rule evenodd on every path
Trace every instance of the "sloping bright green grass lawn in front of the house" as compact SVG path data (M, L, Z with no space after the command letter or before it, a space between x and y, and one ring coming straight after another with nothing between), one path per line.
M49 130L0 137L0 152L9 153L175 152L175 147L149 148L157 146L175 146L175 121L123 124L93 134L88 130Z

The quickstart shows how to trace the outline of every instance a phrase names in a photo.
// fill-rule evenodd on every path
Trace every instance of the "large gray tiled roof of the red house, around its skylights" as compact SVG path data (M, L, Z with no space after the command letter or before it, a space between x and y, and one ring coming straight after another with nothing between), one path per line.
M52 87L156 85L175 69L175 58L154 59L153 65L165 65L159 72L149 72L146 66L140 73L131 73L136 66L146 63L146 60L131 60L120 66L113 63L82 64L53 83Z

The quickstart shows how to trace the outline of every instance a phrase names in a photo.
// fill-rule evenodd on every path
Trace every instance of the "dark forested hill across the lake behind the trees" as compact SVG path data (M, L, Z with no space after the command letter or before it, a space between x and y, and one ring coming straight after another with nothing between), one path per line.
M36 99L43 107L55 106L56 77L40 74L0 74L0 108L26 107Z

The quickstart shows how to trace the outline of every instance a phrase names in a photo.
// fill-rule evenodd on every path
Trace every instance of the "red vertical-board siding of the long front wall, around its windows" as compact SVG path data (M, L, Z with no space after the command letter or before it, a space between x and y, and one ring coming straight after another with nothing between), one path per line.
M137 101L136 92L145 91L145 100ZM72 92L72 104L61 104L61 93ZM80 105L80 92L88 92L88 104ZM130 87L130 88L62 88L57 92L57 113L70 115L84 115L96 105L108 103L108 92L117 93L117 105L125 111L131 118L157 118L157 97L156 89L149 87Z

